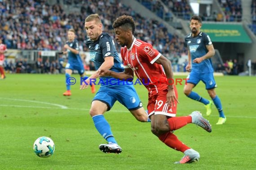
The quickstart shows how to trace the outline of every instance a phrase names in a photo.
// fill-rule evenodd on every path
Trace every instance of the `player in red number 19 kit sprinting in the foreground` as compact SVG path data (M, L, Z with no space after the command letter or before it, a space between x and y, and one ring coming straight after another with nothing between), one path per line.
M198 111L194 111L188 116L176 117L178 95L172 82L171 62L155 50L151 44L133 36L135 23L132 17L126 15L118 17L113 28L115 29L115 39L123 47L121 56L125 70L124 72L98 70L98 76L133 80L133 72L135 72L149 92L147 108L151 119L151 132L170 148L185 154L181 161L175 163L198 161L199 153L178 140L173 131L187 123L195 123L207 132L212 132L212 128Z

